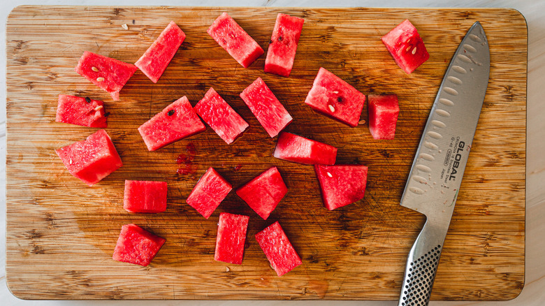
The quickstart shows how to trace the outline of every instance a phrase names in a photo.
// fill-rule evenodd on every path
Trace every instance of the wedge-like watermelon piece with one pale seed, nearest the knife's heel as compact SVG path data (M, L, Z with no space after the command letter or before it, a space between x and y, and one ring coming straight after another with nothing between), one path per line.
M349 205L363 198L367 184L367 166L314 165L321 196L328 210Z

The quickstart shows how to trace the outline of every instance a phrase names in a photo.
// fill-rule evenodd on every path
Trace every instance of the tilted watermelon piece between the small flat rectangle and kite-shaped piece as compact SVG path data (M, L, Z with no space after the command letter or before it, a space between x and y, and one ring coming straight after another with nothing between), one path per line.
M210 167L198 180L186 202L208 219L232 189L231 184Z

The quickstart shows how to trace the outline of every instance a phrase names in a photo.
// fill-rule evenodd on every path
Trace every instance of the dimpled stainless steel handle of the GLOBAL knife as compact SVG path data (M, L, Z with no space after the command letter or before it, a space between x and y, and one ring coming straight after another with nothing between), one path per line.
M423 306L430 303L447 229L426 220L407 256L398 306Z

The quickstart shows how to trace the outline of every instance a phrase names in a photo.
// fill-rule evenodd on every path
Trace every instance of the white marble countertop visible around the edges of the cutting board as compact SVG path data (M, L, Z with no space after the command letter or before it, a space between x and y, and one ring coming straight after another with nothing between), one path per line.
M366 7L505 7L516 8L528 22L528 104L526 160L526 264L525 286L520 296L507 302L432 302L430 305L545 305L545 1L544 0L1 0L0 50L0 305L80 306L112 305L396 305L386 301L29 301L19 300L6 286L6 19L10 10L22 4L116 5L116 6L366 6ZM543 219L542 219L543 218Z

